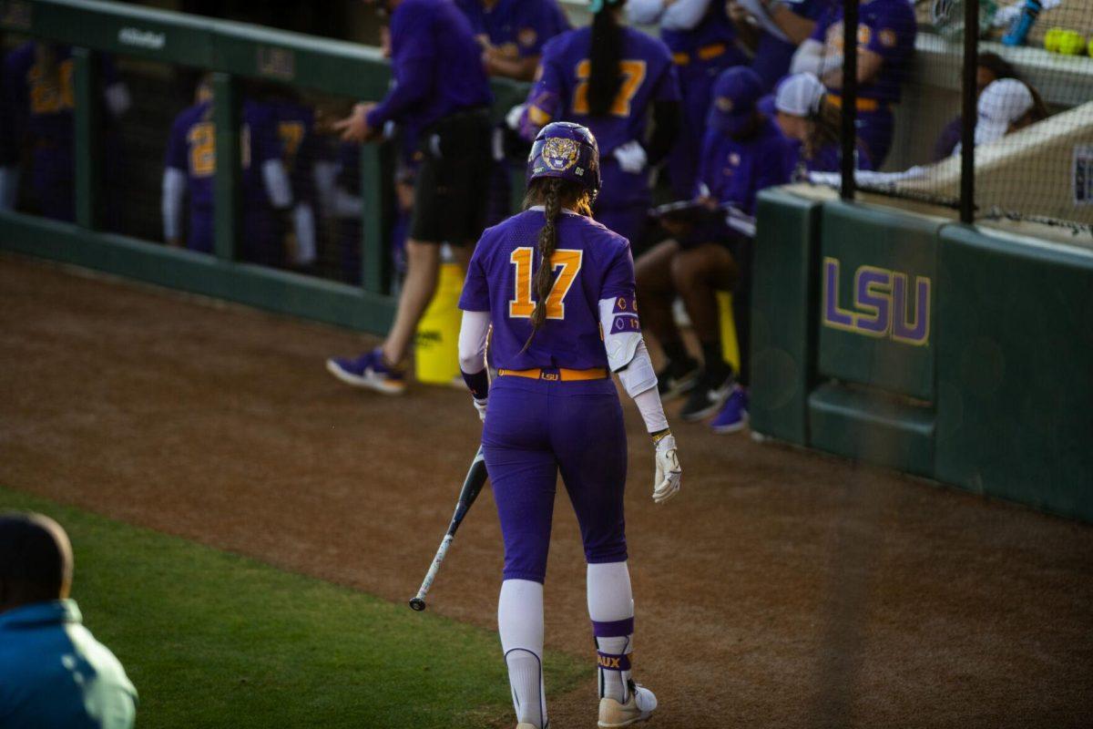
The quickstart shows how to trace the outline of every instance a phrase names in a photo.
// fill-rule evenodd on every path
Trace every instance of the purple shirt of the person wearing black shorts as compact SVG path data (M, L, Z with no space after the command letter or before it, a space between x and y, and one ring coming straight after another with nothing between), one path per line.
M410 140L453 111L493 101L470 21L451 0L403 0L395 9L391 72L395 87L368 126L393 120Z

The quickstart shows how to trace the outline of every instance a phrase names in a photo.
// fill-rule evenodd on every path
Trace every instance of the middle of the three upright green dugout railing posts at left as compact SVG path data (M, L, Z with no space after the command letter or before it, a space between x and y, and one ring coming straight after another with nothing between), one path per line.
M216 258L235 260L239 223L239 104L227 73L212 74L212 120L216 127L213 211Z

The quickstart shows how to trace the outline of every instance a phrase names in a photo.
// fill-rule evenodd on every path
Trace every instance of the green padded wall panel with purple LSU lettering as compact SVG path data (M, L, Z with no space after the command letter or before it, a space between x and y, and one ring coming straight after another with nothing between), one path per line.
M921 215L824 203L815 289L821 376L933 399L939 225Z

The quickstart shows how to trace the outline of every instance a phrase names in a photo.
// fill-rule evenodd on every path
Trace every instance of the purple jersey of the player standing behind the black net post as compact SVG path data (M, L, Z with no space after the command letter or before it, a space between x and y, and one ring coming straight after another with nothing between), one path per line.
M907 0L868 0L861 3L858 8L858 47L878 54L884 62L872 82L858 87L860 98L900 101L900 86L909 71L917 33L915 9ZM827 9L810 37L834 52L843 52L842 3Z

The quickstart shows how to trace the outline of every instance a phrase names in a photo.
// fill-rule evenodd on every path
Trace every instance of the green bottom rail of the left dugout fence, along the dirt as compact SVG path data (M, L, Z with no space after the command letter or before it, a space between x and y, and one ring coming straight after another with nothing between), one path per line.
M75 225L0 213L0 250L48 258L195 294L375 333L395 302L354 286L260 266L223 261Z

